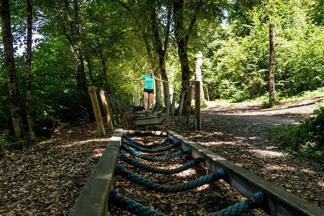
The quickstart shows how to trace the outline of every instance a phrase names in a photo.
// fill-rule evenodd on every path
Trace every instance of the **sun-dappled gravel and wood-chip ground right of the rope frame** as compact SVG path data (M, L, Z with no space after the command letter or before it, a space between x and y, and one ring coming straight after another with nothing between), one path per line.
M283 102L266 110L258 103L213 103L202 110L201 131L180 125L174 125L173 130L324 208L323 165L279 152L274 134L268 130L275 125L297 124L318 109L316 102L323 98Z

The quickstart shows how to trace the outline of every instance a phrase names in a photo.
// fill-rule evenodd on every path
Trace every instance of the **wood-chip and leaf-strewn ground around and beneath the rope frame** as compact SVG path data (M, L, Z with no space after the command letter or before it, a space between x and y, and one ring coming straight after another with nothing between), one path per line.
M167 119L155 130L172 130L206 149L232 161L267 181L324 209L324 168L310 160L300 160L277 149L269 127L295 124L318 108L324 99L282 102L261 110L260 103L209 103L202 110L201 131ZM127 118L118 128L140 130ZM57 130L52 138L26 150L9 152L0 158L0 215L67 215L86 179L96 166L113 132L98 138L96 124ZM152 143L160 138L136 138ZM182 157L186 160L185 157ZM149 163L163 168L180 166L186 161ZM146 162L147 163L147 162ZM170 163L173 163L170 165ZM205 175L203 167L192 168L172 177L143 172L124 166L159 184L179 184ZM165 194L143 190L119 176L115 188L125 196L169 215L206 215L245 199L220 181L195 190ZM113 207L110 215L128 215ZM255 209L245 215L267 215Z

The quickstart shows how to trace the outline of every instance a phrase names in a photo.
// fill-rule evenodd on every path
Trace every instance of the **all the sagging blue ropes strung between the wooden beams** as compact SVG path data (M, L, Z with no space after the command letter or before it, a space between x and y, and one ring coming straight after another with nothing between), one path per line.
M141 152L156 153L156 152L169 151L169 150L177 148L181 145L181 142L174 143L173 141L174 141L173 137L171 137L171 138L169 137L169 138L161 140L153 145L142 145L139 142L133 140L131 137L123 134L122 139L121 139L120 149L130 153L131 155L133 155L135 157L145 159L148 161L165 161L170 158L178 157L178 156L181 156L184 154L190 154L189 148L187 148L186 150L180 150L180 151L174 152L172 154L168 154L166 156L160 156L160 157L151 157L151 156L143 155L143 154L133 150L133 149L136 149ZM154 147L165 145L166 143L169 143L169 142L172 142L172 143L168 146L161 147L158 149L152 149ZM131 147L131 148L129 148L129 147ZM152 173L160 173L160 174L179 173L179 172L190 169L190 168L204 162L204 159L200 156L200 157L190 160L185 165L175 168L175 169L158 169L158 168L154 168L149 165L143 164L134 158L128 157L125 153L122 153L122 152L119 154L119 160L124 161L125 163L128 163L134 167L137 167L137 168L140 168L140 169L152 172ZM147 187L150 190L163 192L163 193L178 193L178 192L191 190L191 189L218 181L222 178L225 178L225 176L226 176L226 173L221 168L215 173L207 174L207 175L197 178L191 182L174 185L174 186L167 186L167 185L156 184L154 182L149 181L146 178L138 176L138 175L126 170L121 164L116 166L115 174L120 175L121 177L123 177L125 179L128 179L132 183L136 183L138 185ZM143 206L134 200L128 199L127 197L120 194L118 192L118 190L111 191L111 193L109 195L109 201L110 201L110 205L116 205L117 207L119 207L121 209L127 210L127 211L137 214L137 215L165 215L165 214L157 212L149 207ZM250 209L259 207L263 203L263 201L264 201L263 192L258 192L255 194L255 196L253 198L243 200L240 203L229 206L226 209L222 209L218 212L214 212L209 215L240 215L244 212L249 211Z

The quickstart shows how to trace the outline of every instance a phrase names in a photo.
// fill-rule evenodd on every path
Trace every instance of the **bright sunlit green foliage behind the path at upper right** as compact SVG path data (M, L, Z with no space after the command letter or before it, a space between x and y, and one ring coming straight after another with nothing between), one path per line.
M307 15L311 2L231 1L228 23L205 37L203 53L210 59L204 60L203 81L212 97L242 101L267 93L269 24L276 29L277 93L293 96L324 86L324 29Z

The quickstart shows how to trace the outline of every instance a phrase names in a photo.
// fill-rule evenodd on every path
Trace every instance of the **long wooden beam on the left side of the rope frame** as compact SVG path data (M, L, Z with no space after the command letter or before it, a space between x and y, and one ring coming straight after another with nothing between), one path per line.
M122 133L122 129L116 129L68 215L107 215L108 197L113 189Z

